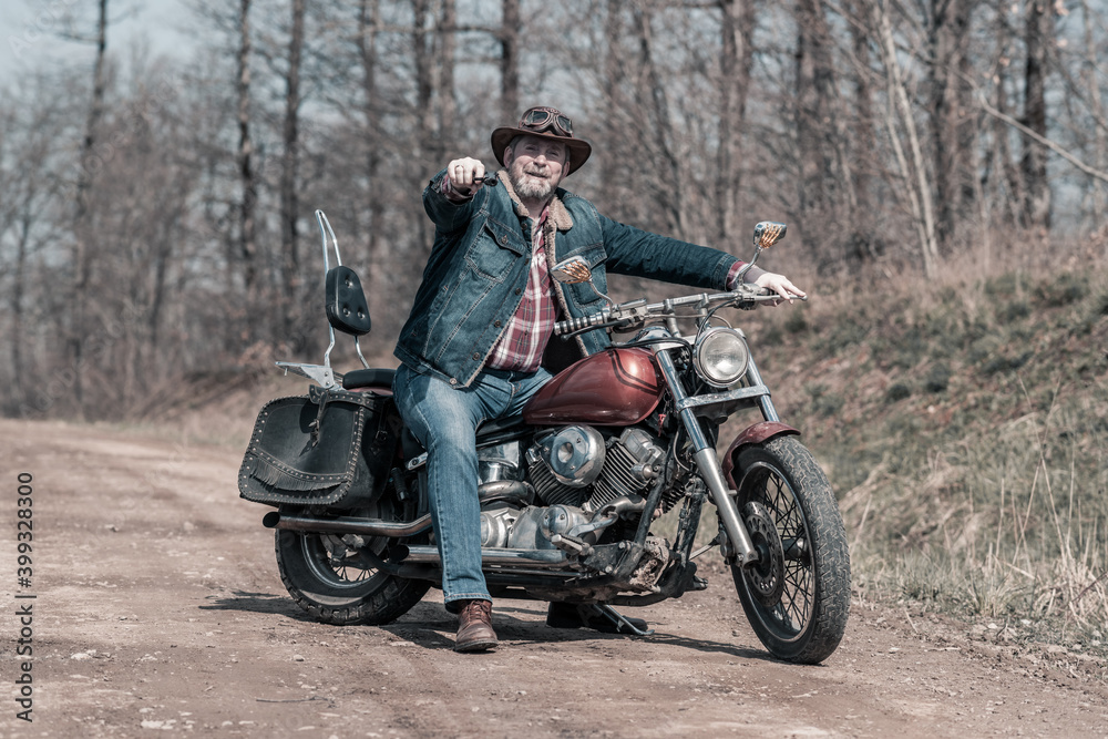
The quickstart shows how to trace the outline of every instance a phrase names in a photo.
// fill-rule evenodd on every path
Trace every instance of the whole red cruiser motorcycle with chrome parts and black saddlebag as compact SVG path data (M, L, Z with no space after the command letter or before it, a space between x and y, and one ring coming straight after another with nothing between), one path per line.
M362 355L359 337L370 330L365 291L342 266L326 215L317 211L316 219L330 343L322 365L277 362L314 384L307 396L263 408L239 490L277 509L263 523L275 530L281 581L305 610L327 624L387 624L441 586L427 452L393 404L394 370L371 368ZM759 223L749 265L784 234L784 224ZM778 417L746 336L720 315L778 296L742 284L730 292L615 304L579 257L554 265L552 277L591 287L605 304L558 322L555 335L609 330L629 338L556 374L522 417L479 428L490 592L578 604L618 632L648 636L613 606L706 588L695 561L719 547L769 653L799 664L827 659L850 604L838 504L799 431ZM691 324L688 335L683 324ZM331 368L336 330L353 337L363 369ZM740 431L720 461L720 427L745 410L761 420ZM718 526L697 546L705 503L715 506ZM655 528L678 505L669 541Z

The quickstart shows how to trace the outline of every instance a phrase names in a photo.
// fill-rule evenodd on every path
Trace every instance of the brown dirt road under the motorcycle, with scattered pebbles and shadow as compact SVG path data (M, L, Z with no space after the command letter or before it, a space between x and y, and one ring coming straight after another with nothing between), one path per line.
M1108 736L1101 667L1079 654L855 599L825 665L784 665L722 572L635 610L647 639L502 601L501 648L456 655L438 591L383 628L317 624L280 584L266 509L238 497L239 450L50 422L0 421L0 440L3 737Z

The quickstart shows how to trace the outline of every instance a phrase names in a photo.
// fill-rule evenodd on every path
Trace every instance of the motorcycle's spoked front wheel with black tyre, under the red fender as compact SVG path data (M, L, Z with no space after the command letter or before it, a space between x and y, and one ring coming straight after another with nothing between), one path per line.
M779 659L814 665L842 640L850 554L831 483L793 437L746 447L736 460L738 507L760 554L732 566L742 609Z

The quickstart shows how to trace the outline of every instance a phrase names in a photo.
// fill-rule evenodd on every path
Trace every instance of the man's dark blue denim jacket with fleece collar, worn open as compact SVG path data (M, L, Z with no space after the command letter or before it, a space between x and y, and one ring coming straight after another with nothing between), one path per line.
M495 186L479 187L463 203L451 202L440 192L444 176L445 171L440 172L423 191L423 207L435 225L434 244L394 353L418 372L468 387L523 299L533 222L505 172L497 173ZM607 292L605 270L721 290L737 261L718 249L612 220L585 198L562 188L547 217L557 229L553 261L584 257L601 292ZM555 300L568 317L604 307L587 284L555 283L554 288ZM575 340L582 355L609 343L601 330Z

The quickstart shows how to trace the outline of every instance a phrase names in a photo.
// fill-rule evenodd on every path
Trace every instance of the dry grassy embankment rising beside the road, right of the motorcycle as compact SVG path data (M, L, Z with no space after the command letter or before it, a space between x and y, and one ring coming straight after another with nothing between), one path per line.
M813 292L746 328L839 496L855 591L1102 649L1108 270Z

